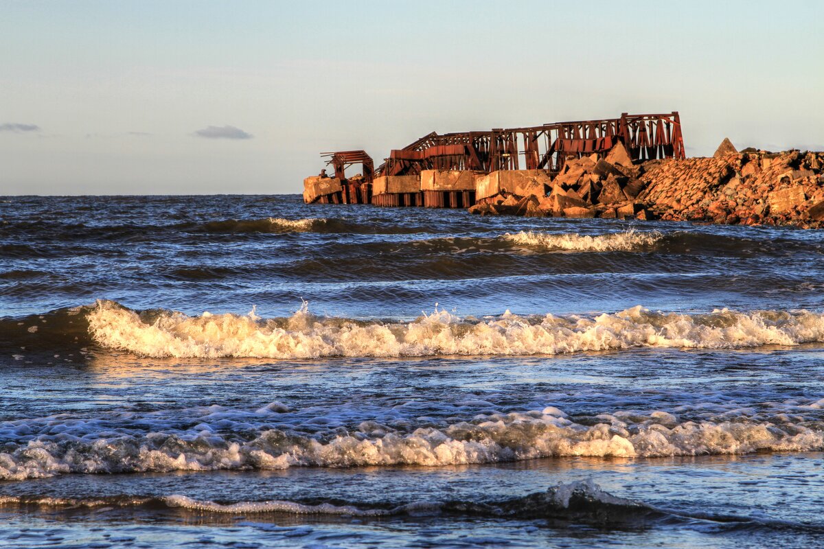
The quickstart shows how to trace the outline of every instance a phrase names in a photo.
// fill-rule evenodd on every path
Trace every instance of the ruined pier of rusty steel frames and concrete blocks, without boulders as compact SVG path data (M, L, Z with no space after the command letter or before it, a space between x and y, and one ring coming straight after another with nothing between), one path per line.
M307 203L466 208L527 180L551 179L568 161L603 158L621 144L632 161L684 158L678 113L545 123L527 128L428 133L390 151L377 168L366 151L322 153L334 174L304 180ZM360 165L349 178L346 170ZM520 181L520 183L515 183ZM493 192L494 190L494 192Z

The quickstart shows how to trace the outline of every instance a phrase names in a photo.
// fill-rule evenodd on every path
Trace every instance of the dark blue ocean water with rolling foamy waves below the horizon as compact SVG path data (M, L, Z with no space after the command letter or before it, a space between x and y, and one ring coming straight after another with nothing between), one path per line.
M0 200L0 547L817 547L824 233Z

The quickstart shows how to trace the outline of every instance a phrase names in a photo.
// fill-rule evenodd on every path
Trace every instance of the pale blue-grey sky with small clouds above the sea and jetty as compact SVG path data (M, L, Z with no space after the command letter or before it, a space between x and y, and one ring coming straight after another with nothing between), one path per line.
M322 151L678 110L824 151L824 2L0 0L0 195L299 193Z

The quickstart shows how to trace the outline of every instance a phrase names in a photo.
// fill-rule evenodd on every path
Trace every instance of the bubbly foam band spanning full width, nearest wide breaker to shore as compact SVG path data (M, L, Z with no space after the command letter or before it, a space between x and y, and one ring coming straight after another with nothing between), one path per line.
M800 409L800 408L799 408ZM810 407L812 410L813 408ZM817 410L817 409L816 409ZM180 412L179 412L180 413ZM260 413L257 411L255 413ZM769 419L745 412L683 421L668 412L615 412L570 418L555 407L480 414L444 426L393 430L374 421L324 435L242 424L245 438L201 422L185 431L114 430L73 418L5 422L19 443L0 452L0 479L64 473L497 463L549 456L659 457L824 449L824 422L798 414ZM126 422L133 425L132 421ZM213 428L214 427L214 428ZM250 434L249 431L252 431ZM36 433L36 434L35 434ZM16 437L17 438L17 437Z

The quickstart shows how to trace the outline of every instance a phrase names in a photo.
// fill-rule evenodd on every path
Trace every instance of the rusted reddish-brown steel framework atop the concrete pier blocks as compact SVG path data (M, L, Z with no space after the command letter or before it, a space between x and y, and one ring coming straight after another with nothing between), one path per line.
M364 151L330 154L335 177L344 167L363 162L363 177L413 175L422 170L549 170L558 172L568 158L606 156L622 142L634 161L684 158L684 139L677 111L670 114L627 114L617 119L546 123L527 128L494 128L485 132L428 133L371 170ZM368 159L368 161L367 161Z

